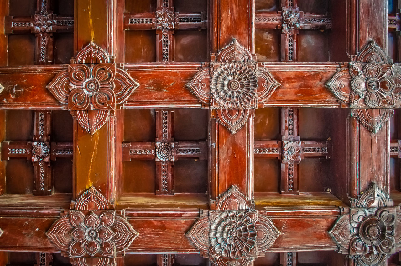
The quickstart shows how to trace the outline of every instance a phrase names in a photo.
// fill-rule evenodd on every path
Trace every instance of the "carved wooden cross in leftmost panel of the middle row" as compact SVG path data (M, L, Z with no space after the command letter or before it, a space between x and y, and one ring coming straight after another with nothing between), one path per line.
M1 160L26 158L32 160L35 171L34 195L52 194L51 161L72 158L72 143L51 142L51 111L34 111L34 137L32 141L4 141Z

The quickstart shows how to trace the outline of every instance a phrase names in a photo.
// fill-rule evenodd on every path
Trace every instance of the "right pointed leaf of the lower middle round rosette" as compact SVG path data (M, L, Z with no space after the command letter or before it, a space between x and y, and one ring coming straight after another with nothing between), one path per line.
M256 246L258 254L262 255L268 250L281 232L275 227L274 223L263 215L258 215L255 222L255 229L257 231Z

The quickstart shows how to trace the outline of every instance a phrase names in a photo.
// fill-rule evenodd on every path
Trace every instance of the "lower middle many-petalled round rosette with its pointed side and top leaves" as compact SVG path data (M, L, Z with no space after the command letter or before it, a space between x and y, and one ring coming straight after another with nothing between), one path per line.
M249 210L252 203L235 186L219 196L216 207L219 211L206 212L186 233L204 257L213 260L243 258L249 262L263 256L280 235L263 212ZM235 209L238 207L247 209Z

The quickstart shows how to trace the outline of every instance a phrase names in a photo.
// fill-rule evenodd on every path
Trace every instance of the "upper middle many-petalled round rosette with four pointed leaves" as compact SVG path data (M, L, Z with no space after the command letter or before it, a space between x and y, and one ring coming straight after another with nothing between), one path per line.
M186 86L204 108L217 109L217 121L236 133L249 109L263 107L280 84L236 39L211 58Z

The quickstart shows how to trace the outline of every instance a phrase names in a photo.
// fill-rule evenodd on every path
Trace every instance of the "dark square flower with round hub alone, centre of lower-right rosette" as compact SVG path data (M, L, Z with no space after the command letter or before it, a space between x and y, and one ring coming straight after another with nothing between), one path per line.
M385 208L354 209L350 216L350 248L356 255L392 254L395 215Z

